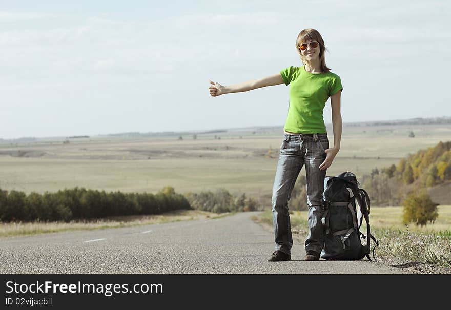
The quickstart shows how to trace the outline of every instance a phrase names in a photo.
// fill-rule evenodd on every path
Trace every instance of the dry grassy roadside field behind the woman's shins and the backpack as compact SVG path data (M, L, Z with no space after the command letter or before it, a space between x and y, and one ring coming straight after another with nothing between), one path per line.
M434 224L423 227L414 224L407 226L402 223L400 206L371 208L371 233L379 241L376 248L378 260L395 257L451 268L451 205L439 205L438 213ZM292 231L306 237L307 218L306 211L290 212ZM253 220L272 225L272 212L265 211L254 216ZM366 234L366 224L363 223L360 230ZM371 242L374 247L374 242Z

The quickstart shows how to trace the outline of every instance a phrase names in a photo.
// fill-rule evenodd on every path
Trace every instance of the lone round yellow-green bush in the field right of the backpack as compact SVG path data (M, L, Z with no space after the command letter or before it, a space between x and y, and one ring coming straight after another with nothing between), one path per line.
M424 226L427 222L434 223L438 217L437 205L425 189L412 192L402 202L402 221L404 224L413 222L417 226Z

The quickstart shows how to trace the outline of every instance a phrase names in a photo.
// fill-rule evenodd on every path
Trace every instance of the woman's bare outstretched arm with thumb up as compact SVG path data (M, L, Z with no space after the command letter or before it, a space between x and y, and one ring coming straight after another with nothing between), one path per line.
M231 86L222 86L219 83L210 81L210 95L212 97L220 96L222 94L247 92L253 89L262 88L265 86L273 86L283 84L283 79L280 73L263 77L260 79L254 79L240 84L234 84Z

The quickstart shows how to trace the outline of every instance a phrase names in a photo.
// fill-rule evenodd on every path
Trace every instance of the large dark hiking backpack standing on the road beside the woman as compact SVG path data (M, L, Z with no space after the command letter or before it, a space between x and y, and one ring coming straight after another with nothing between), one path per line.
M356 176L349 171L324 179L324 248L321 257L326 260L358 260L370 258L370 239L379 241L370 232L370 197L359 188ZM358 208L357 208L358 204ZM359 229L362 217L366 221L366 236ZM366 245L360 241L366 238Z

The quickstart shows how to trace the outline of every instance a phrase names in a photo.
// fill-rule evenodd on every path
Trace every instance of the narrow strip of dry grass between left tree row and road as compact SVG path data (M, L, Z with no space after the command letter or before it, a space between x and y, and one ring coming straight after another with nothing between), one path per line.
M33 235L74 230L94 230L105 228L149 225L174 221L186 221L204 218L217 218L228 214L216 214L197 210L177 210L165 214L144 216L120 216L96 219L92 221L64 222L15 222L0 223L0 237Z

